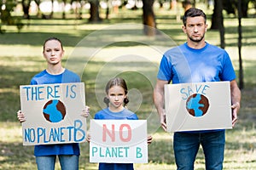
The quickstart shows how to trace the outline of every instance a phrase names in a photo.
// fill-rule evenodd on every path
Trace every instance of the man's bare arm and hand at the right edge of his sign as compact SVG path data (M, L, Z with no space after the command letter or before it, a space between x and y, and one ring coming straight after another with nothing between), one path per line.
M237 86L236 80L230 82L231 108L232 108L232 126L235 127L237 114L240 109L241 91Z

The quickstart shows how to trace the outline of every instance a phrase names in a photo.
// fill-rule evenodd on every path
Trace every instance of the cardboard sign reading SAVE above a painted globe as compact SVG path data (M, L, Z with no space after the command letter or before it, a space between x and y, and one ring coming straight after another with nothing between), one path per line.
M167 84L167 131L232 128L230 99L230 82Z

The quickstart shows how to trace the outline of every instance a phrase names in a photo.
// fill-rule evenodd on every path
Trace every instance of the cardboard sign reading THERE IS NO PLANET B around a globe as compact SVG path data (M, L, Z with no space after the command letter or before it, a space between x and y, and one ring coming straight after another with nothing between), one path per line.
M24 145L86 140L84 82L20 86Z

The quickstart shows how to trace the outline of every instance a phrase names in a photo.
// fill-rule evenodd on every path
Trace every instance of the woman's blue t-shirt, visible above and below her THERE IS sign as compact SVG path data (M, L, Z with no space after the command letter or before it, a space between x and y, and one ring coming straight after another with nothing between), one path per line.
M80 77L73 71L65 69L59 75L51 75L46 70L32 77L31 85L81 82ZM39 144L34 147L35 156L80 155L79 144Z

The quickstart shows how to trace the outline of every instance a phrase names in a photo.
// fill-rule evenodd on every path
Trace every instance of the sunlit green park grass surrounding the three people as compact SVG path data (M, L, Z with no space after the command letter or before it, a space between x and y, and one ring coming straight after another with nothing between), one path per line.
M175 18L175 13L166 10L159 10L156 13L157 26L160 31L171 37L173 42L183 43L185 37L180 29L181 23ZM109 37L108 34L102 34L100 37L95 37L95 40L86 41L92 32L102 33L101 29L106 30L108 26L113 26L113 24L131 22L140 24L141 14L141 11L131 12L127 10L119 14L112 14L111 20L104 20L102 23L95 24L89 24L86 20L32 19L20 33L17 33L13 26L5 27L6 33L0 35L0 169L36 168L33 147L22 146L21 127L16 119L16 111L20 109L19 86L29 84L31 77L45 68L45 61L41 54L42 43L45 38L52 36L60 37L64 42L66 57L63 65L70 62L72 60L70 56L74 56L76 51L82 48L79 47L79 42L85 44L84 46L88 50L93 47L100 47L102 42L106 40L109 42L113 39L117 40L112 43L106 41L107 46L96 51L92 58L86 56L87 51L85 50L85 54L82 53L84 58L78 58L82 60L74 59L73 61L75 62L73 63L74 69L84 68L81 76L86 84L86 104L90 105L90 112L93 116L103 105L103 88L109 77L113 77L113 75L125 77L132 94L129 106L132 111L137 112L140 119L148 119L148 133L154 137L154 142L148 146L148 164L136 164L136 169L176 168L172 150L172 134L164 133L160 128L151 97L155 82L154 77L162 52L160 47L168 48L172 44L167 42L172 41L166 40L165 44L165 41L157 37L145 39L141 36L142 30L138 28L121 31L121 36L111 34L112 37ZM128 18L125 19L125 16ZM255 18L242 20L245 88L241 91L239 122L233 130L227 130L226 133L224 169L256 169L255 22ZM237 29L234 23L236 23L236 19L225 18L226 50L230 54L236 71L238 71ZM132 40L132 38L135 38L137 42L125 41ZM124 41L121 41L122 39ZM84 40L86 43L81 43ZM207 42L218 45L218 32L207 31ZM93 47L90 47L91 44ZM130 57L131 54L135 56L133 61L131 58L127 59L127 54L130 54ZM138 61L138 57L143 57L143 59ZM114 59L118 59L119 62L113 62ZM73 65L67 66L72 67ZM58 167L58 165L56 166ZM79 168L97 168L97 164L89 162L89 145L86 143L81 144ZM195 169L204 169L202 150L199 151L195 161Z

